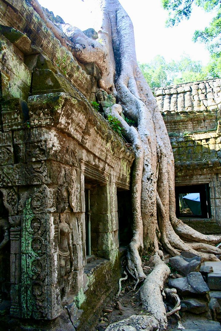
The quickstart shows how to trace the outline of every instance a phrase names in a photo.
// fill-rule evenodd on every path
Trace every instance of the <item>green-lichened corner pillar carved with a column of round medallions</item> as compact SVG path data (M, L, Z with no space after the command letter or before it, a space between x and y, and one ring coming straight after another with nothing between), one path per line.
M21 300L23 318L53 319L61 313L58 258L58 214L52 190L35 189L25 201L21 233Z

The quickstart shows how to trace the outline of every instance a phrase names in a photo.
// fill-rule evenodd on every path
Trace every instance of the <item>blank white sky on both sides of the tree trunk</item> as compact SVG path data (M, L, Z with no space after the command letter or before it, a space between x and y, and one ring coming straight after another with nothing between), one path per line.
M38 0L41 6L59 15L65 23L85 30L89 27L99 29L99 7L94 0ZM141 63L150 62L157 54L169 60L178 60L183 53L193 60L206 64L209 52L204 44L193 43L193 32L203 29L213 17L195 7L189 21L178 26L165 27L167 12L161 7L160 0L120 0L130 16L135 32L137 59Z

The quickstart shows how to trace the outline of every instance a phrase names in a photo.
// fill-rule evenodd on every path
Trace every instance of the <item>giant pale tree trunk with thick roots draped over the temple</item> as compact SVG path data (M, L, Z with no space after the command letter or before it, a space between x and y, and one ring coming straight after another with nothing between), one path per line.
M156 100L138 67L133 24L118 0L100 0L103 20L98 34L101 43L86 37L70 24L53 24L37 0L29 2L78 61L94 62L99 67L99 87L117 100L117 104L106 108L104 113L120 121L124 137L132 143L135 153L133 238L128 249L128 271L137 279L144 279L140 255L143 249L156 253L155 268L140 292L148 314L131 316L127 321L119 322L119 326L109 326L107 330L123 330L123 323L130 325L127 330L165 330L167 320L161 292L169 268L159 258L162 257L159 243L172 256L187 251L203 260L215 261L214 254L221 254L221 250L214 245L221 242L221 236L203 235L176 218L174 158L170 140ZM122 110L137 123L137 128L124 120L120 115Z

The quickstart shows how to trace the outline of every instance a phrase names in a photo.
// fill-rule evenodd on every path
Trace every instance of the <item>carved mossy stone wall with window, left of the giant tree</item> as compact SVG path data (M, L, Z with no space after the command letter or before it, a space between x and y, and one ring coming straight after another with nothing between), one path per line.
M93 64L79 64L28 1L2 1L0 23L1 297L13 318L63 314L74 330L97 277L110 281L106 296L117 284L117 190L130 189L134 154L91 107ZM109 261L102 275L84 273L88 217L91 254Z

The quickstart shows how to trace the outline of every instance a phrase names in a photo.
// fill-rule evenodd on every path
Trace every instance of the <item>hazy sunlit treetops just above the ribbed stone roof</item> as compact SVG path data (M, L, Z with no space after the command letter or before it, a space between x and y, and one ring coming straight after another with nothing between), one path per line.
M210 73L212 67L203 67L200 61L191 60L184 54L179 61L166 62L163 56L157 55L150 63L139 64L150 88L177 85L202 79L214 78Z

